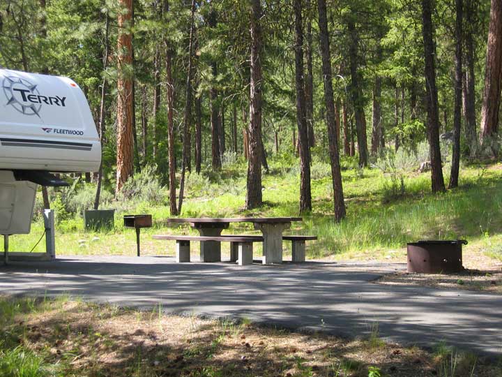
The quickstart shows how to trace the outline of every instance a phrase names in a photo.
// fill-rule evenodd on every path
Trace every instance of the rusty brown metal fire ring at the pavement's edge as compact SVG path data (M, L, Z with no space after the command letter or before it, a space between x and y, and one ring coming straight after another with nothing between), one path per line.
M456 241L418 241L408 244L408 272L441 274L462 272L462 244Z

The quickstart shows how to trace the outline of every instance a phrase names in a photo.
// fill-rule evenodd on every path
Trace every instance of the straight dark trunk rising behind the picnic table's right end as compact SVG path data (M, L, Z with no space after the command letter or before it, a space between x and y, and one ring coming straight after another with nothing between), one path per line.
M296 82L296 124L300 151L300 213L312 211L310 191L310 148L305 108L305 84L303 82L303 1L294 0L295 14L295 82Z

